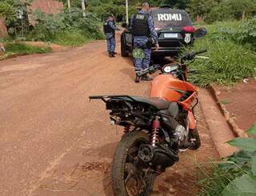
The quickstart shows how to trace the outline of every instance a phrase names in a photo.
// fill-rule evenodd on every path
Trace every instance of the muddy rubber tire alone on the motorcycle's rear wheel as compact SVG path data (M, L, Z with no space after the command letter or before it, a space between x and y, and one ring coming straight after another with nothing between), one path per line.
M129 196L126 190L125 175L126 164L130 154L130 150L137 149L140 144L145 144L150 141L150 137L142 131L134 131L130 134L124 135L122 140L118 143L115 150L114 159L111 168L112 188L116 196ZM146 186L138 196L148 196L154 185L154 178L156 174L149 174L146 178Z

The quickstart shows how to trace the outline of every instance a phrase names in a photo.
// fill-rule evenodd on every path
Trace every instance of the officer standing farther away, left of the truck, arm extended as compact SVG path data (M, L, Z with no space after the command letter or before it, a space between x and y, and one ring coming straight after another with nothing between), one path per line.
M115 30L119 30L115 26L114 15L110 15L103 26L104 34L106 35L107 52L110 58L114 58L115 53Z

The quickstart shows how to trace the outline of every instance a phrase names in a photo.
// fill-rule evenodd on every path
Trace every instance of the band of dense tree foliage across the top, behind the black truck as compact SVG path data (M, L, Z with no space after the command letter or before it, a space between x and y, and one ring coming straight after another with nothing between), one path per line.
M66 0L62 0L66 2ZM104 19L109 14L124 21L126 16L125 0L87 0L87 10L94 12L98 18ZM256 14L256 0L129 0L130 14L142 2L150 6L169 5L173 9L187 10L191 18L202 17L207 23L223 20L240 20ZM71 6L81 7L81 0L71 1Z

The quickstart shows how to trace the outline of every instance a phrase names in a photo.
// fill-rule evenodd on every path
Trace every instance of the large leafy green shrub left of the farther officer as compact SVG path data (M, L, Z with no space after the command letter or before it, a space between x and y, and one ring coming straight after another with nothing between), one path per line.
M70 12L65 10L55 15L45 14L37 10L34 14L34 18L36 26L34 26L34 30L31 31L29 38L36 41L58 42L63 36L65 38L70 36L73 38L73 40L70 40L70 43L74 45L75 42L73 41L75 35L78 36L76 39L80 41L82 41L82 39L88 40L88 38L103 38L102 32L97 25L98 18L90 13L86 14L86 18L83 18L82 10L78 8L72 9ZM78 33L74 33L75 31L78 31Z

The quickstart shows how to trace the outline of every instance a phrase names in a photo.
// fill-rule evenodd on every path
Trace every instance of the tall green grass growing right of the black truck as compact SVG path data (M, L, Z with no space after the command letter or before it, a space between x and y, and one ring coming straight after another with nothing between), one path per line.
M206 26L208 34L196 40L190 50L207 49L209 60L196 59L190 64L191 69L199 74L190 74L190 81L198 86L210 83L230 85L242 78L253 78L256 69L256 54L250 46L234 42L234 31L238 22L218 22ZM227 33L226 33L227 32Z

